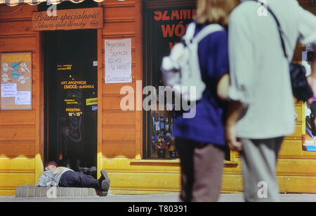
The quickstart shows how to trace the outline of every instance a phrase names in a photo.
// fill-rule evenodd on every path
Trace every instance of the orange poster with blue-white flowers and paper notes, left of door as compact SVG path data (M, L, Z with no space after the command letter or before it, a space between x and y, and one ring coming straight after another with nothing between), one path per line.
M32 109L32 52L0 53L1 110Z

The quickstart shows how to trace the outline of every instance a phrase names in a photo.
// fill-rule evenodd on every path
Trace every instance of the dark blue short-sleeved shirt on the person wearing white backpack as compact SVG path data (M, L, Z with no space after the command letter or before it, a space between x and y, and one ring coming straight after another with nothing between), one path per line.
M206 26L197 25L195 34ZM196 115L183 118L176 113L173 136L187 138L202 143L225 145L224 117L225 102L218 99L216 85L218 80L229 71L228 32L216 31L206 36L198 47L199 66L206 90L196 104Z

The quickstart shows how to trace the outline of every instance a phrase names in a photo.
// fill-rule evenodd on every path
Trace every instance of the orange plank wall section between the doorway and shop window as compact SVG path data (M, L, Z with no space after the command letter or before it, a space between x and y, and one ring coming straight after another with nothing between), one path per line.
M137 145L138 127L141 122L137 120L136 111L122 111L120 101L126 94L120 94L121 87L129 85L133 88L133 94L129 99L136 106L136 77L141 77L142 65L137 59L141 57L141 44L136 43L136 38L141 37L142 32L137 31L136 23L141 22L141 14L138 13L137 4L140 1L103 1L100 3L104 11L104 27L102 30L102 157L103 161L110 158L135 158ZM105 39L131 38L132 44L132 82L105 84ZM100 48L99 48L100 49ZM125 98L126 99L126 98ZM139 123L136 123L139 122ZM102 162L103 164L103 162Z

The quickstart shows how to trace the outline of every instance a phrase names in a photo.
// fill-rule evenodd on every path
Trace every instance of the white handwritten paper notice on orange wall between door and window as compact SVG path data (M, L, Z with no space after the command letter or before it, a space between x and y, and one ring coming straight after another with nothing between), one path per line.
M132 82L131 38L105 40L105 83Z

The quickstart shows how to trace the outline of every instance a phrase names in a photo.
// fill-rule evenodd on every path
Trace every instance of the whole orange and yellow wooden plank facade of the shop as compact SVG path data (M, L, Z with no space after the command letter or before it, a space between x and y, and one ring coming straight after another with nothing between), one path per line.
M179 3L181 2L181 3ZM193 2L193 3L192 3ZM316 5L299 1L316 15ZM96 29L98 120L96 167L105 168L111 179L113 194L174 193L180 191L180 161L175 158L148 157L150 115L143 110L121 110L126 96L121 87L129 85L132 99L142 99L147 84L146 11L154 8L194 8L194 1L105 0L103 28ZM71 9L70 9L71 10ZM0 110L0 195L15 194L15 187L36 185L46 162L46 81L44 65L44 31L33 31L32 14L37 6L27 3L14 7L0 5L0 53L32 52L32 109ZM164 11L162 11L164 12ZM179 30L180 31L180 30ZM105 83L105 40L131 38L130 83ZM294 62L301 62L305 46L298 45ZM140 97L138 97L140 95ZM296 132L287 136L279 154L277 178L281 192L316 193L316 152L302 151L303 118L301 103L295 105ZM239 155L230 152L225 161L222 192L242 192L242 166Z

